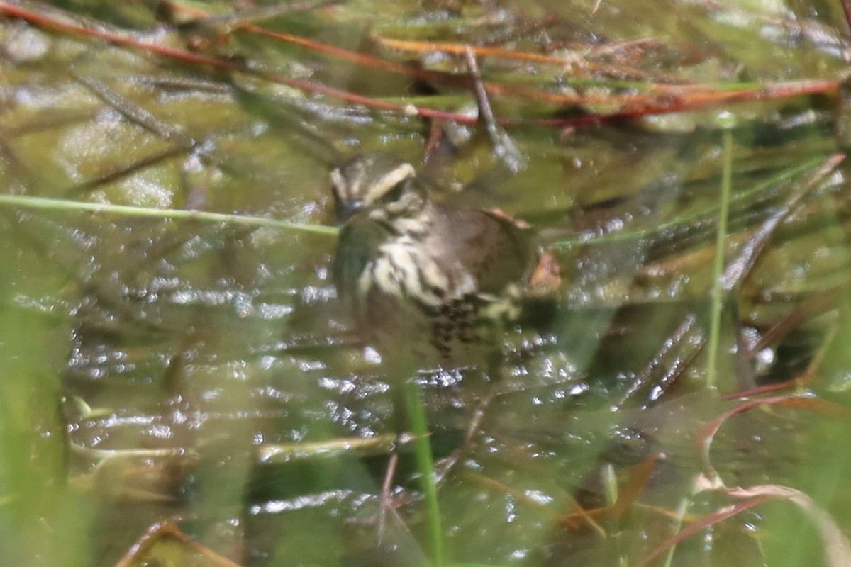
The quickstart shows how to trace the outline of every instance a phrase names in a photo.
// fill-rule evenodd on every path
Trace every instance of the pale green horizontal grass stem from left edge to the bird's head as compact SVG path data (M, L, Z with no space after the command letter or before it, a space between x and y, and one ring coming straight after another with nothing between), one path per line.
M307 234L336 236L339 230L335 226L320 224L290 223L277 218L252 217L238 214L208 213L186 209L131 207L129 205L111 205L108 203L89 203L66 201L64 199L46 199L26 195L0 195L0 206L36 209L42 211L105 213L129 218L169 218L171 220L195 220L205 223L236 224L269 229L294 230Z

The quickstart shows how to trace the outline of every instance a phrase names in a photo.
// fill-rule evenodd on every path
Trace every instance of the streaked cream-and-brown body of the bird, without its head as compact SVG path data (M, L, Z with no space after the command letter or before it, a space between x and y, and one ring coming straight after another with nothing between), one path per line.
M344 227L338 289L383 350L464 364L496 348L516 315L517 282L532 258L521 233L483 211L426 203L393 217L380 209Z

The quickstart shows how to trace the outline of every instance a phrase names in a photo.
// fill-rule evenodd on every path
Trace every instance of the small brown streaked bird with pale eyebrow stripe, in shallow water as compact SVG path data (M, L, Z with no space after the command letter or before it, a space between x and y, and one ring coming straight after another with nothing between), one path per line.
M382 355L441 367L493 360L501 332L523 315L524 295L540 296L529 293L536 275L540 283L544 270L545 286L558 278L528 225L435 201L397 156L358 154L330 177L341 223L334 283Z

